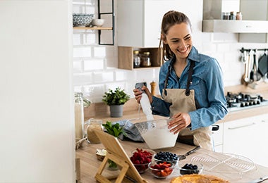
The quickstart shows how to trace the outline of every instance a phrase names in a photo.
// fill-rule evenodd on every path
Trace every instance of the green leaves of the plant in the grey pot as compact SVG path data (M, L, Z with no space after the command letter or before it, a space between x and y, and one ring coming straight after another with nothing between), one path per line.
M130 99L130 96L119 87L117 87L115 90L109 89L109 92L105 92L104 96L102 97L102 101L104 101L104 103L106 103L108 106L122 105Z

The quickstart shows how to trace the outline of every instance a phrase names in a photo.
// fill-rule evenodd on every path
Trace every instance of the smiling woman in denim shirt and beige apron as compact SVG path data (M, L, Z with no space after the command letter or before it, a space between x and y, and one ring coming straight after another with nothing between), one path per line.
M142 87L152 113L173 118L169 129L179 132L178 141L214 150L211 125L227 113L219 63L195 49L190 20L181 12L164 15L160 45L162 42L166 62L159 70L159 89L163 99ZM133 92L140 103L142 92Z

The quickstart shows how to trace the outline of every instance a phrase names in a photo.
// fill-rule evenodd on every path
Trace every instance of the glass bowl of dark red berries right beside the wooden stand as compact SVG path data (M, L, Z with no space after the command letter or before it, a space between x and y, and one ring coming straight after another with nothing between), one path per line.
M132 156L130 157L131 162L135 166L138 172L144 173L148 169L149 163L154 157L155 151L150 149L135 149L132 151Z

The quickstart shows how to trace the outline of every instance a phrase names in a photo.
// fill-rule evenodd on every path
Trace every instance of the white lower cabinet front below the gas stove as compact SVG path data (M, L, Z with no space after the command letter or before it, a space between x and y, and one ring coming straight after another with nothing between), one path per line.
M236 153L268 167L268 114L224 123L225 153Z

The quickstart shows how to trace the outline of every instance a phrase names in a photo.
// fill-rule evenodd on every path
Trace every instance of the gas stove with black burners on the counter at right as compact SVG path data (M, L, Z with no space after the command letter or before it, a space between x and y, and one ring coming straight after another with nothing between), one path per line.
M225 97L227 101L226 106L229 112L268 105L268 101L263 99L260 94L245 94L242 92L235 94L227 92Z

